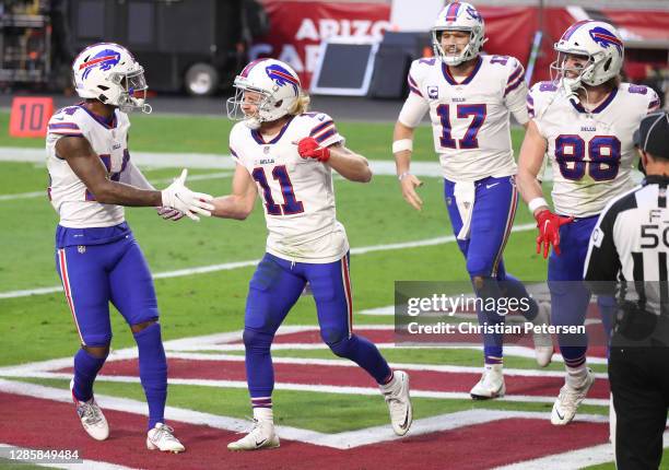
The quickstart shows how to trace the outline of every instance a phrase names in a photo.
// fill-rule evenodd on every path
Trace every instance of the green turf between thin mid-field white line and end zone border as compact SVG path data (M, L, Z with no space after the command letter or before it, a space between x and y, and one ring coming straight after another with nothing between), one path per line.
M530 232L514 235L529 244ZM261 254L258 254L260 256ZM518 266L527 275L531 266L509 256L509 266ZM412 260L430 262L415 263ZM438 262L435 262L438 260ZM407 263L415 268L407 271ZM461 280L465 270L454 244L377 251L352 257L351 275L356 309L392 305L396 280ZM445 270L444 266L448 266ZM161 308L163 338L175 339L215 331L238 330L243 325L247 284L253 267L185 278L155 281ZM55 278L55 274L54 274ZM56 278L55 278L56 279ZM55 280L56 282L56 280ZM287 316L286 325L316 325L313 297L303 297ZM361 320L357 320L360 322ZM387 322L384 317L365 317L365 324ZM114 348L133 345L133 339L118 314L111 315ZM77 330L62 294L0 299L0 334L3 354L0 365L71 355L78 348Z

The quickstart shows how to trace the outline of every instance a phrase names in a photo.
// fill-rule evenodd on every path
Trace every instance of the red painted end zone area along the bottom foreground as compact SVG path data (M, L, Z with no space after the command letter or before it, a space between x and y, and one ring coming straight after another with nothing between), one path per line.
M83 459L134 468L425 470L497 467L605 444L608 438L608 424L576 422L555 427L545 419L509 419L351 450L282 440L275 450L240 454L225 448L238 438L235 433L172 422L187 451L167 455L145 448L144 416L117 411L105 414L111 434L98 443L85 435L73 406L0 392L0 442L30 448L78 449Z

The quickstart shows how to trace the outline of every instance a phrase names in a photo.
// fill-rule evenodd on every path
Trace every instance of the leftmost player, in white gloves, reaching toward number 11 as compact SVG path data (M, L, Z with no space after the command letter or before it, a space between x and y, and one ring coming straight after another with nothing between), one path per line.
M111 342L109 302L128 322L139 350L140 379L149 403L149 449L183 451L165 424L167 362L153 280L125 221L124 207L155 207L165 219L198 220L213 209L211 196L184 186L186 171L155 190L130 160L127 113L151 111L144 70L122 46L85 48L74 60L74 86L83 102L49 120L48 196L60 216L56 269L79 332L72 399L84 430L104 440L109 427L93 396L93 383Z

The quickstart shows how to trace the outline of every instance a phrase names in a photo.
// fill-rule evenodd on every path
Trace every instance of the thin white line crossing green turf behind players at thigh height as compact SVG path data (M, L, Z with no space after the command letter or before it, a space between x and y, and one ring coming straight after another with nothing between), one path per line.
M536 224L524 224L516 225L513 227L512 232L527 232L536 228ZM360 248L351 248L351 255L366 255L368 252L374 251L387 251L394 249L403 249L403 248L419 248L424 246L435 246L443 245L455 242L456 237L454 235L436 237L436 238L425 238L415 242L403 242L403 243L395 243L387 245L372 245L372 246L363 246ZM248 261L235 261L235 262L224 262L221 265L209 265L201 266L197 268L186 268L178 269L176 271L165 271L153 274L154 279L167 279L167 278L180 278L184 275L192 275L192 274L202 274L206 272L215 272L215 271L228 271L232 269L238 268L247 268L250 266L256 266L260 262L259 259L253 259ZM10 292L0 292L0 298L16 298L16 297L27 297L30 295L42 295L42 294L52 294L55 292L61 292L61 285L55 285L52 287L38 287L38 289L28 289L22 291L10 291Z

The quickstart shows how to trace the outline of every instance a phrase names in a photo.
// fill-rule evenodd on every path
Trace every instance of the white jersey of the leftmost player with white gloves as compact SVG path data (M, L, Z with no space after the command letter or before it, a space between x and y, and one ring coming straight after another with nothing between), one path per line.
M110 179L118 180L129 160L128 129L125 113L115 111L110 125L93 115L82 104L56 111L47 128L46 151L49 171L49 199L60 215L60 225L70 228L107 227L125 221L124 208L101 204L72 172L64 158L56 154L56 142L63 136L83 137L107 168Z

